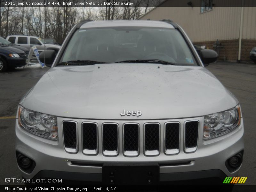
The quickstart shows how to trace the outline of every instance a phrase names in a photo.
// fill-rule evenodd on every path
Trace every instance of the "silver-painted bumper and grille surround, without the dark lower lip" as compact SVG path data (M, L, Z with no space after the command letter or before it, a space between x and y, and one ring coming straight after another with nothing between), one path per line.
M135 162L158 162L160 164L172 164L184 161L191 161L189 164L181 165L169 165L161 166L160 173L175 173L175 172L191 172L191 171L201 171L201 170L211 170L220 169L228 176L237 176L237 171L230 173L225 166L225 161L244 149L243 141L243 118L241 125L234 131L229 132L221 137L214 138L212 140L203 140L203 117L198 118L186 118L186 119L175 119L181 123L181 141L183 141L183 125L185 121L188 120L199 120L199 140L198 148L194 153L185 153L183 151L183 142L180 142L180 152L177 155L165 155L163 152L163 142L160 145L160 155L159 156L144 156L143 154L143 129L140 129L140 155L138 157L125 157L123 155L122 145L119 145L119 155L116 157L103 156L101 148L101 140L99 140L99 154L97 156L84 155L82 153L82 123L91 121L88 119L71 119L71 118L58 118L58 124L61 125L63 120L76 121L78 123L78 149L79 152L76 154L67 153L64 150L62 130L59 129L59 140L52 141L36 135L30 134L23 128L19 127L18 120L16 120L16 149L26 156L37 162L35 170L28 174L23 171L22 176L25 178L33 178L37 172L41 170L54 170L54 171L66 171L66 172L84 172L84 173L102 173L102 168L100 166L92 165L76 165L72 164L71 161L83 162L83 163L105 163L105 162L125 162L125 163L135 163ZM173 120L140 120L132 121L143 125L148 122L159 122L161 125L160 137L163 138L163 126L164 122L169 122ZM103 123L114 122L122 125L124 123L131 123L128 120L96 120L99 127ZM121 126L119 126L121 127ZM101 135L101 129L99 128L99 135ZM122 127L119 132L122 132ZM122 134L119 134L119 140L122 140ZM60 175L61 178L61 175ZM81 178L82 179L82 178Z

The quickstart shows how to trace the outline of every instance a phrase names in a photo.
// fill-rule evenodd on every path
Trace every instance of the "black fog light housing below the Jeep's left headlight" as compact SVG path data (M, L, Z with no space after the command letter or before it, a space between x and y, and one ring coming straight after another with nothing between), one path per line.
M35 161L21 154L18 151L16 151L16 158L17 158L17 163L22 171L26 173L31 173L34 170L36 166Z

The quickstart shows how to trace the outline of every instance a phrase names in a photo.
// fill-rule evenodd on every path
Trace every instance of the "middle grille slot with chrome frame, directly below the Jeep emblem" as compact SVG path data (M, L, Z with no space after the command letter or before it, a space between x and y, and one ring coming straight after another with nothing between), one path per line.
M124 156L139 155L139 130L140 125L136 123L125 123L123 125Z

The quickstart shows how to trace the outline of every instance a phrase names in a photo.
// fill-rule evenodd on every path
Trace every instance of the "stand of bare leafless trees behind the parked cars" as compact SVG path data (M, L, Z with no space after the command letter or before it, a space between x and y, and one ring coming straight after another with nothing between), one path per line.
M0 3L3 5L5 1L11 0L0 0ZM60 4L58 7L0 7L0 35L40 36L54 38L61 43L80 20L135 20L160 0L127 0L128 3L133 2L133 6L123 7L110 5L114 0L106 0L109 4L105 7L64 6L61 0L58 1ZM71 0L65 1L71 2ZM45 0L45 2L50 1ZM116 2L123 1L116 0Z

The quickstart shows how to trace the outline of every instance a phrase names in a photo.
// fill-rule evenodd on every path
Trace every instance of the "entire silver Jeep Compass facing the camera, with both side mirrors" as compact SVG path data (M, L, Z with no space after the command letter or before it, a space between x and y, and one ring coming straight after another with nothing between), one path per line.
M52 68L20 101L22 176L105 184L236 176L243 118L204 68L217 56L198 55L171 20L77 24L57 56L40 54Z

